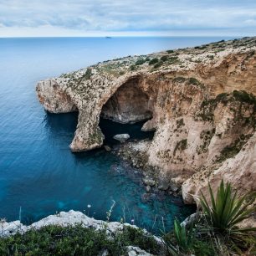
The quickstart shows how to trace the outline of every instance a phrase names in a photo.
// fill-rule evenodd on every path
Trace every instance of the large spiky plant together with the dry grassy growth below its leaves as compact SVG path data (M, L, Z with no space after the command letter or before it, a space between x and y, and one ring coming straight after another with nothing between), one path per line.
M200 198L202 212L207 221L204 229L212 233L218 252L224 251L225 255L228 252L243 254L250 250L256 253L256 228L237 227L238 223L251 217L255 211L256 207L249 207L255 198L248 201L245 200L248 195L238 198L237 192L233 193L231 184L224 184L223 181L218 187L216 197L213 196L210 185L209 193L211 205L203 194Z

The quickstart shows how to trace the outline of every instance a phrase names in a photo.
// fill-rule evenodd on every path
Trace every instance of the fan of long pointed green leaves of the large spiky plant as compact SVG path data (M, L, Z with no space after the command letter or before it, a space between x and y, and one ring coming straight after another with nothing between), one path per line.
M212 187L208 185L211 205L207 202L206 197L202 194L200 202L202 211L207 218L207 223L219 233L243 233L253 231L255 228L237 228L236 225L244 219L249 218L255 211L255 207L248 208L253 202L246 202L246 195L238 198L237 192L233 193L231 184L226 185L222 181L218 187L218 192L214 198Z

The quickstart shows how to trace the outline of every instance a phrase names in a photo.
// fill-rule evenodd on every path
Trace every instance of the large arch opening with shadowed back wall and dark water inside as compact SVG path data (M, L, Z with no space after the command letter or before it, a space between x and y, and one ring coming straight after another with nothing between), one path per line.
M100 129L105 135L105 144L115 144L116 134L129 134L131 140L152 139L154 131L141 131L152 118L151 100L138 86L139 78L122 84L103 105L100 113Z

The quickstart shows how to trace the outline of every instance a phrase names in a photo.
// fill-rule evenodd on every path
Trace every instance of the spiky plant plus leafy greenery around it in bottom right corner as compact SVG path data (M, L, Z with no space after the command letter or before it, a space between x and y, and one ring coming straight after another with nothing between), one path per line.
M169 255L255 255L256 228L238 228L252 216L255 197L238 198L230 183L222 181L217 194L209 186L211 203L202 194L202 212L186 226L175 223L172 233L164 236ZM250 198L246 200L247 198Z

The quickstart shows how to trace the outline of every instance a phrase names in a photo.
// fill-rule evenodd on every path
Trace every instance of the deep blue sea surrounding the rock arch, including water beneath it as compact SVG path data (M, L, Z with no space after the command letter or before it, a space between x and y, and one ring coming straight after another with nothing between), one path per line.
M124 218L138 226L172 228L193 207L181 198L151 194L135 169L104 150L74 154L69 144L77 114L53 115L38 103L38 80L97 62L132 54L184 48L222 38L0 38L0 218L31 223L70 209L103 219L113 200L111 220ZM226 39L226 38L225 38ZM141 124L102 122L109 136ZM88 207L91 205L91 207Z

